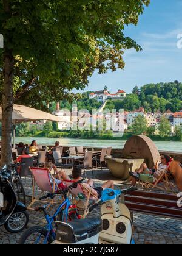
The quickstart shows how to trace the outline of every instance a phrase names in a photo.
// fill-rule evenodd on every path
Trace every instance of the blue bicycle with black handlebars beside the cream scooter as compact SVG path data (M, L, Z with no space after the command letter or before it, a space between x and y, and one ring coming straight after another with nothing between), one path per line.
M19 240L19 244L51 244L56 238L56 221L72 221L73 219L79 219L78 212L76 210L75 205L70 204L69 198L67 197L67 193L72 190L72 188L76 188L79 183L82 183L83 180L79 180L78 182L73 183L68 188L62 190L59 193L49 193L44 197L41 197L40 200L44 200L47 198L53 199L55 196L63 195L64 202L59 205L53 216L50 216L47 213L47 207L50 204L46 204L43 207L36 207L36 212L43 212L45 219L47 221L46 227L35 226L30 227L27 231L21 236Z

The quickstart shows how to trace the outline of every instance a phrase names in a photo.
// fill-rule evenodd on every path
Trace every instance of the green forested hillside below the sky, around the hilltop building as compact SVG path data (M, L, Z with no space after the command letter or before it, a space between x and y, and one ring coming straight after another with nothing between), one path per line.
M76 94L76 98L72 103L67 100L61 101L60 107L72 109L73 104L78 105L78 110L87 109L90 111L92 108L99 108L101 102L96 99L89 99L90 91L83 94ZM148 84L143 87L135 87L131 94L128 94L123 101L121 100L109 100L106 104L106 108L111 109L124 109L135 110L143 106L147 112L155 112L160 110L165 112L170 109L172 112L178 112L182 110L182 83L175 81L170 83L160 84ZM55 110L56 103L53 102L50 106L50 111Z

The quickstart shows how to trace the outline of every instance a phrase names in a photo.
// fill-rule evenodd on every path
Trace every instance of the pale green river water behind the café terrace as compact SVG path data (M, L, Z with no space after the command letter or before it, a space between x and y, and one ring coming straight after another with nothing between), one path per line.
M20 141L25 144L30 144L32 140L36 140L38 144L41 145L53 145L55 141L58 140L61 146L86 146L90 148L104 148L112 147L123 149L126 141L121 140L83 140L79 138L35 138L35 137L16 137L16 143ZM173 141L157 141L155 142L158 150L160 151L174 151L182 153L182 142L173 142Z

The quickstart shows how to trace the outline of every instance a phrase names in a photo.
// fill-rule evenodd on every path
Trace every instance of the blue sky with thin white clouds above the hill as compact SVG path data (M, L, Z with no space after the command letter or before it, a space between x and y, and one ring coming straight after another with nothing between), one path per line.
M138 26L126 27L124 34L140 44L143 51L125 52L124 71L103 75L95 72L85 91L101 90L106 85L112 92L121 89L131 93L136 85L182 82L182 48L177 47L178 34L182 38L182 0L151 0Z

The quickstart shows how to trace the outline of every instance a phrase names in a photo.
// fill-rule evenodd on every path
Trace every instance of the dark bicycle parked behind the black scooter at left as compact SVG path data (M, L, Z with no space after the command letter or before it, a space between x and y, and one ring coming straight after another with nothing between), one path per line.
M24 186L22 185L21 177L18 173L18 167L21 166L20 163L13 163L11 165L10 171L10 183L12 184L13 189L18 197L18 201L26 204L26 196Z

